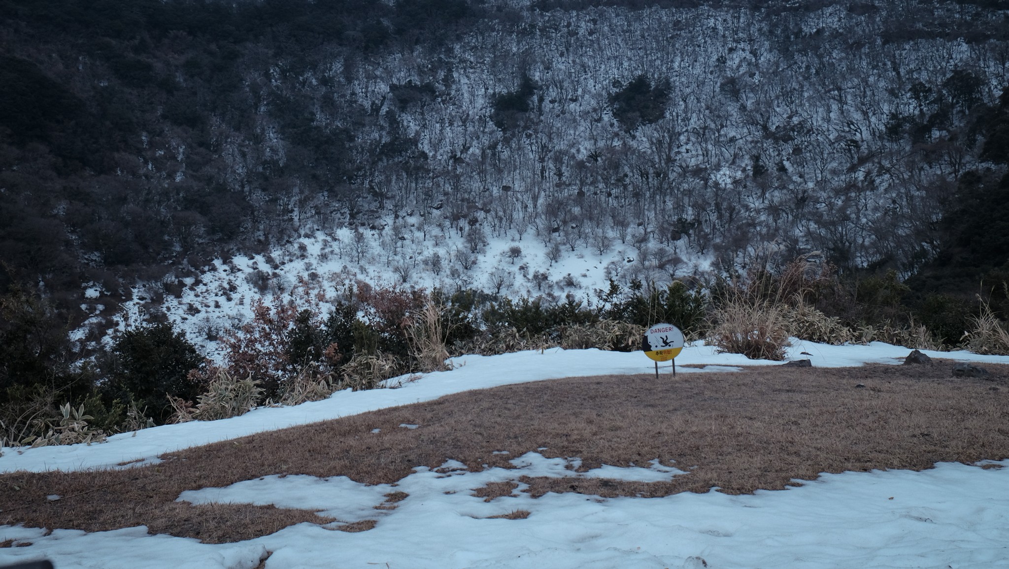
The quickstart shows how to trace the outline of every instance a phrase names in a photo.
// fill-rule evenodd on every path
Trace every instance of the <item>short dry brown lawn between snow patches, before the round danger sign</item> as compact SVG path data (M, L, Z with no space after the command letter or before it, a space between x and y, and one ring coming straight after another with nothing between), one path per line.
M146 525L152 533L230 542L325 521L307 510L176 502L179 494L281 473L393 483L414 466L437 468L449 459L475 470L510 467L510 458L539 447L548 457L581 457L583 469L659 458L689 474L657 483L522 478L533 495L658 496L713 486L742 493L819 472L1009 458L1009 366L987 365L992 380L954 379L949 367L761 367L469 391L172 453L157 465L0 475L0 524L87 531ZM403 423L420 428L398 428ZM372 434L375 428L381 432ZM510 454L494 454L501 450ZM513 489L473 490L491 497ZM48 494L65 497L50 501ZM387 497L394 503L400 496Z

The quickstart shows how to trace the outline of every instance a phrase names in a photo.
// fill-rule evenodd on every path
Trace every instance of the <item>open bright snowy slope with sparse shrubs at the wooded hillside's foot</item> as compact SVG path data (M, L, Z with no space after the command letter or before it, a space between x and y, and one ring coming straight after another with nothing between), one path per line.
M100 305L82 305L90 307L95 316L71 336L83 340L90 335L110 342L115 332L144 322L151 312L163 312L191 341L214 357L216 338L251 318L253 299L269 304L279 296L325 314L328 302L348 284L362 280L374 287L408 290L473 288L513 298L542 295L563 300L573 296L590 304L597 302L597 291L607 290L610 278L625 284L633 277L668 281L673 276L697 274L708 268L710 260L684 249L682 253L692 259L690 262L679 257L676 263L660 269L654 262L643 261L633 246L620 240L601 253L584 245L551 253L543 240L530 235L520 239L515 232L489 238L471 252L462 235L433 230L425 235L411 220L419 218L407 218L399 235L391 229L320 231L292 240L272 253L215 259L198 267L197 276L174 284L175 295L165 294L163 281L139 283L114 315L103 313ZM169 280L176 279L172 276ZM86 297L97 286L88 287Z

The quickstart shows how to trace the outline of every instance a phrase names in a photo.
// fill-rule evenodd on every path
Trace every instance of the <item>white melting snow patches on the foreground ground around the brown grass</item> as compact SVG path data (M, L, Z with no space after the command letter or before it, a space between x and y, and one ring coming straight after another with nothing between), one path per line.
M791 359L816 366L899 363L908 349L874 343L828 346L795 341ZM802 354L806 352L806 354ZM1006 356L926 352L959 360L1009 363ZM808 354L808 355L807 355ZM293 408L259 409L223 421L156 427L117 435L92 446L5 449L0 471L84 469L259 431L278 429L397 405L430 401L468 389L572 375L654 370L641 353L599 350L521 352L455 358L451 371L426 374L395 389L342 391ZM687 347L679 364L709 364L698 373L777 362ZM669 368L662 369L669 374ZM400 385L405 378L390 380ZM660 379L661 380L661 379ZM410 426L413 427L413 426ZM418 428L423 429L421 425ZM543 450L543 449L541 449ZM990 462L990 461L986 461ZM360 533L333 525L300 524L247 542L224 545L149 536L145 528L85 533L0 527L0 541L30 542L0 549L0 563L45 557L67 568L297 567L1009 567L1009 461L1003 468L942 463L922 471L823 474L785 490L731 496L717 491L661 498L601 498L520 491L489 502L471 489L523 475L572 475L577 457L547 459L528 453L516 469L468 472L454 461L419 467L397 486L366 486L343 476L267 476L226 488L194 489L179 499L195 503L272 503L324 510L342 522L376 520ZM689 466L689 465L686 465ZM668 479L683 472L656 463L631 468L603 465L582 473L636 480ZM374 509L391 490L409 496L395 509ZM522 485L518 490L522 489ZM527 519L490 517L516 510ZM322 521L320 521L322 522ZM337 523L338 525L338 523Z

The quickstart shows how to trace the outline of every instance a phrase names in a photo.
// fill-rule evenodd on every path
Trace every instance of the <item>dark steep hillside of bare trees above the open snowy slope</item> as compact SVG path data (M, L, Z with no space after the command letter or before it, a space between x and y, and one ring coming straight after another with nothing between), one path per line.
M4 13L4 278L65 309L345 227L432 273L431 238L456 235L633 245L660 279L810 250L907 275L962 177L994 191L1006 159L999 2Z

